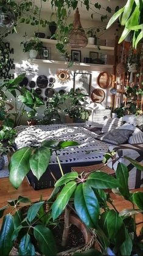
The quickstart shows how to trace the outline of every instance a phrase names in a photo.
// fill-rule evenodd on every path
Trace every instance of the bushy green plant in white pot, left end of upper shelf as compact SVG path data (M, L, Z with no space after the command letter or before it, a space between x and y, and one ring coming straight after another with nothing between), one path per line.
M35 37L35 40L28 40L21 42L23 45L23 52L29 52L29 56L31 59L36 59L38 53L41 53L41 48L43 47L43 42L40 42L38 37Z

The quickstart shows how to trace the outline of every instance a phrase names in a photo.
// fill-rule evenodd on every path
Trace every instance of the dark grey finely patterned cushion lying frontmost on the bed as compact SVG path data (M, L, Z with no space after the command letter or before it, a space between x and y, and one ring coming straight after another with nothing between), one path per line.
M132 133L133 130L113 129L106 134L97 135L96 138L114 145L119 145L125 143Z

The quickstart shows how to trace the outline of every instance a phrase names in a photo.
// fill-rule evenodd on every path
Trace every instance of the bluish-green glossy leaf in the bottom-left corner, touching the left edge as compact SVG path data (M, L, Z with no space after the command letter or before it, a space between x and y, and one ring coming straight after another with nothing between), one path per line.
M13 247L11 236L13 233L13 217L10 214L4 216L0 232L0 253L1 256L8 256Z

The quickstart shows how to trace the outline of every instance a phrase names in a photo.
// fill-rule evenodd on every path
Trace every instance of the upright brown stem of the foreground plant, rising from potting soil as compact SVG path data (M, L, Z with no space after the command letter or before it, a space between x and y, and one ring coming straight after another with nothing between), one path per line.
M68 207L65 208L65 216L64 216L64 230L63 230L63 236L61 240L61 246L66 246L68 235L69 235L69 215L70 215L70 209Z

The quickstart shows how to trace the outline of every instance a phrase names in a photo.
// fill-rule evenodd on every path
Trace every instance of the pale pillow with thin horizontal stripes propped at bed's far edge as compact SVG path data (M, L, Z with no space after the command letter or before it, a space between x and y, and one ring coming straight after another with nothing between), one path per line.
M111 118L111 110L93 110L91 125L102 128L106 118Z

